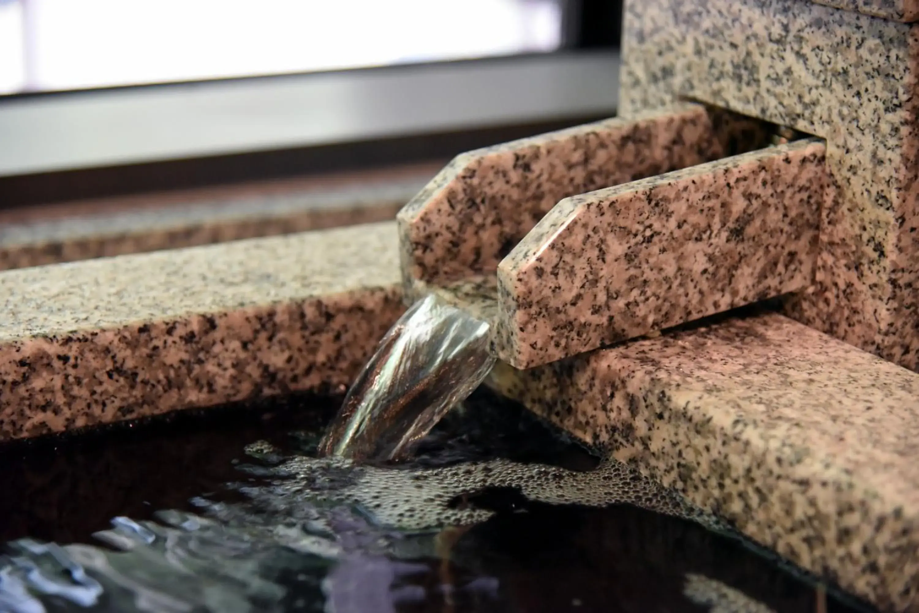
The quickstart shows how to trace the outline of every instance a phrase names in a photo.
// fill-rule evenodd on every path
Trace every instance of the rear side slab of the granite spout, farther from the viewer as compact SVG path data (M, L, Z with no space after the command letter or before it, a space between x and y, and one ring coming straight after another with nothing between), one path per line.
M565 197L766 141L762 122L686 104L463 153L399 213L406 285L494 272Z

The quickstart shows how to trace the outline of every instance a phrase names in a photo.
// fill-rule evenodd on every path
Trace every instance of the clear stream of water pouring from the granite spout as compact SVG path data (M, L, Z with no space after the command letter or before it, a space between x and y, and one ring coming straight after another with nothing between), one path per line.
M488 324L434 296L416 301L347 392L319 452L400 460L494 366Z

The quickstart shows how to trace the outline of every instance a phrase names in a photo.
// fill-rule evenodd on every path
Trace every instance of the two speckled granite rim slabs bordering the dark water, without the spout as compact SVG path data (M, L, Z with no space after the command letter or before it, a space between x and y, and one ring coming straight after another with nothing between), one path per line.
M340 392L403 312L400 278L394 222L8 271L0 429ZM907 369L766 309L489 384L857 596L914 585Z

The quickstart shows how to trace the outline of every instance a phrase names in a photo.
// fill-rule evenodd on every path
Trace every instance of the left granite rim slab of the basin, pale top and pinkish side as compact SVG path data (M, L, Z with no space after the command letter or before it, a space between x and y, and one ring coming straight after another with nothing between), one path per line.
M344 385L398 281L393 222L0 273L0 439Z

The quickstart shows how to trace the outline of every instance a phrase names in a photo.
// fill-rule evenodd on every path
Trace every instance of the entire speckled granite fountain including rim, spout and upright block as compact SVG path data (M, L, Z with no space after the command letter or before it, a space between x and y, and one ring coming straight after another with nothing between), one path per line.
M460 155L398 221L8 270L0 438L342 392L434 292L491 324L495 392L919 610L917 15L631 2L620 117Z

